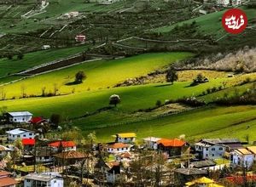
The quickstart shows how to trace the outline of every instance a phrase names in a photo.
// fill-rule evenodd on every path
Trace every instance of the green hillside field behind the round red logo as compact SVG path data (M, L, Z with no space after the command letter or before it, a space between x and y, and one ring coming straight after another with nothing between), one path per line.
M253 20L253 18L255 18L256 16L255 8L241 8L241 9L243 9L246 12L249 22ZM212 13L212 14L201 15L200 17L197 17L191 20L185 20L177 24L174 24L172 26L163 26L163 27L154 29L153 31L162 32L162 33L170 32L175 26L182 26L183 24L191 24L193 21L196 21L196 24L199 26L199 30L202 31L203 33L207 35L212 34L215 37L221 37L224 34L226 34L221 24L222 16L226 10L227 9L220 12Z

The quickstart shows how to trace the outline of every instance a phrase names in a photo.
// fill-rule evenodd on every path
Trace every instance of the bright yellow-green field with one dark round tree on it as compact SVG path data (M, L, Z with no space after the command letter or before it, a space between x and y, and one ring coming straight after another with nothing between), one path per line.
M70 94L73 88L76 92L109 88L127 78L146 76L150 71L158 70L165 65L191 56L190 53L158 53L141 54L125 59L85 62L82 65L75 65L9 84L4 86L4 90L7 98L12 98L20 97L21 87L25 88L27 95L40 95L43 87L46 88L46 92L53 92L54 84L57 84L60 94ZM81 84L66 85L74 81L78 71L84 71L87 79Z

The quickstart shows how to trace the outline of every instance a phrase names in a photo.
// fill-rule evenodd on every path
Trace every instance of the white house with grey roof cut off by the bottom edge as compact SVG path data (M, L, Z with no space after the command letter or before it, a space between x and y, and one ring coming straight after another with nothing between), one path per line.
M64 181L59 173L30 173L24 178L25 187L63 187Z

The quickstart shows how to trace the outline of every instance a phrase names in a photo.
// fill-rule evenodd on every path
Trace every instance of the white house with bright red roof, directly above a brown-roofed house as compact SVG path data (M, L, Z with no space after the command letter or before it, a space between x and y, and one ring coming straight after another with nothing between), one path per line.
M77 145L73 141L55 141L48 144L49 147L52 147L55 152L58 150L69 151L77 150Z

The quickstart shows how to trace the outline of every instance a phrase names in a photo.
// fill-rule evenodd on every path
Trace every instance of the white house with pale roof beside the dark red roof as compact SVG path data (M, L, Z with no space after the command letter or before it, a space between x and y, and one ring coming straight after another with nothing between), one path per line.
M29 122L32 119L32 113L29 111L15 111L6 113L9 122L20 123Z

